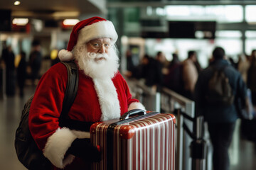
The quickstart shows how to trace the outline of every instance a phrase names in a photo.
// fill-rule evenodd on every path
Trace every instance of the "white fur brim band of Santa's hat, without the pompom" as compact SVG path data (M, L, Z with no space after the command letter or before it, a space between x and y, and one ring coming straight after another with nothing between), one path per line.
M90 26L85 26L79 30L77 45L96 38L111 38L114 44L117 41L118 35L113 23L111 21L100 21L92 23Z

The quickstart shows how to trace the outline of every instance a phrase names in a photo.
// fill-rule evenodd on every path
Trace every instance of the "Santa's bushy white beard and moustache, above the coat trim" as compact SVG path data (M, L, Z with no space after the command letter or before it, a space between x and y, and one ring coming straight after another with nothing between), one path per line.
M78 60L78 66L92 79L111 79L119 68L117 48L111 47L109 53L87 52L85 45L74 47L73 54ZM104 58L103 60L99 60Z

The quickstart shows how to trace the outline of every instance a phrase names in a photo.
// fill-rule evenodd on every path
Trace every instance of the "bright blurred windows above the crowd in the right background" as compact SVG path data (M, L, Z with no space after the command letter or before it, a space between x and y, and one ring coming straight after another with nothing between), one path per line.
M202 67L207 67L212 50L216 46L223 47L226 55L233 60L237 60L238 55L242 53L250 55L252 50L256 49L256 5L243 3L241 5L238 3L237 5L198 5L195 3L195 5L163 6L159 3L159 6L156 6L155 3L150 6L149 3L144 6L135 6L135 8L139 11L134 17L137 21L127 19L129 13L134 11L122 8L123 18L127 19L127 21L124 20L123 33L127 38L143 37L144 52L151 56L155 56L157 51L163 51L167 59L171 60L171 54L177 52L180 60L185 60L188 50L196 50ZM172 37L169 23L178 23L178 21L202 22L204 26L215 27L213 32L215 37L206 39L205 35L208 31L206 28L195 30L195 36L190 38ZM210 26L211 22L214 22L215 26ZM184 28L184 34L193 30L186 26ZM150 35L142 36L146 31Z

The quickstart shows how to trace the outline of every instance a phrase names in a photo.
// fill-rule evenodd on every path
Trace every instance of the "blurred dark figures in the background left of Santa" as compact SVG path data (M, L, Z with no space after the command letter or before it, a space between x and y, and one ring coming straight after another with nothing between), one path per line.
M54 53L54 57L51 54L51 65L59 62L58 51L53 50L52 53ZM14 55L11 45L4 43L0 58L0 84L1 87L4 86L4 93L7 96L14 96L18 93L19 96L23 97L26 80L36 86L41 78L42 62L43 55L39 40L33 40L29 54L21 50L18 55ZM16 92L16 86L18 86L18 92Z

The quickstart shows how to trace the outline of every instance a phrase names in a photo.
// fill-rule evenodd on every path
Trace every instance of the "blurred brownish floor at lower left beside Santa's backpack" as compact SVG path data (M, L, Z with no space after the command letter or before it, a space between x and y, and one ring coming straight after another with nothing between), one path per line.
M18 162L14 148L14 137L18 127L21 111L26 100L33 94L35 87L27 86L25 95L0 99L0 169L1 170L25 170ZM18 92L18 91L16 91ZM18 93L16 93L18 94Z

